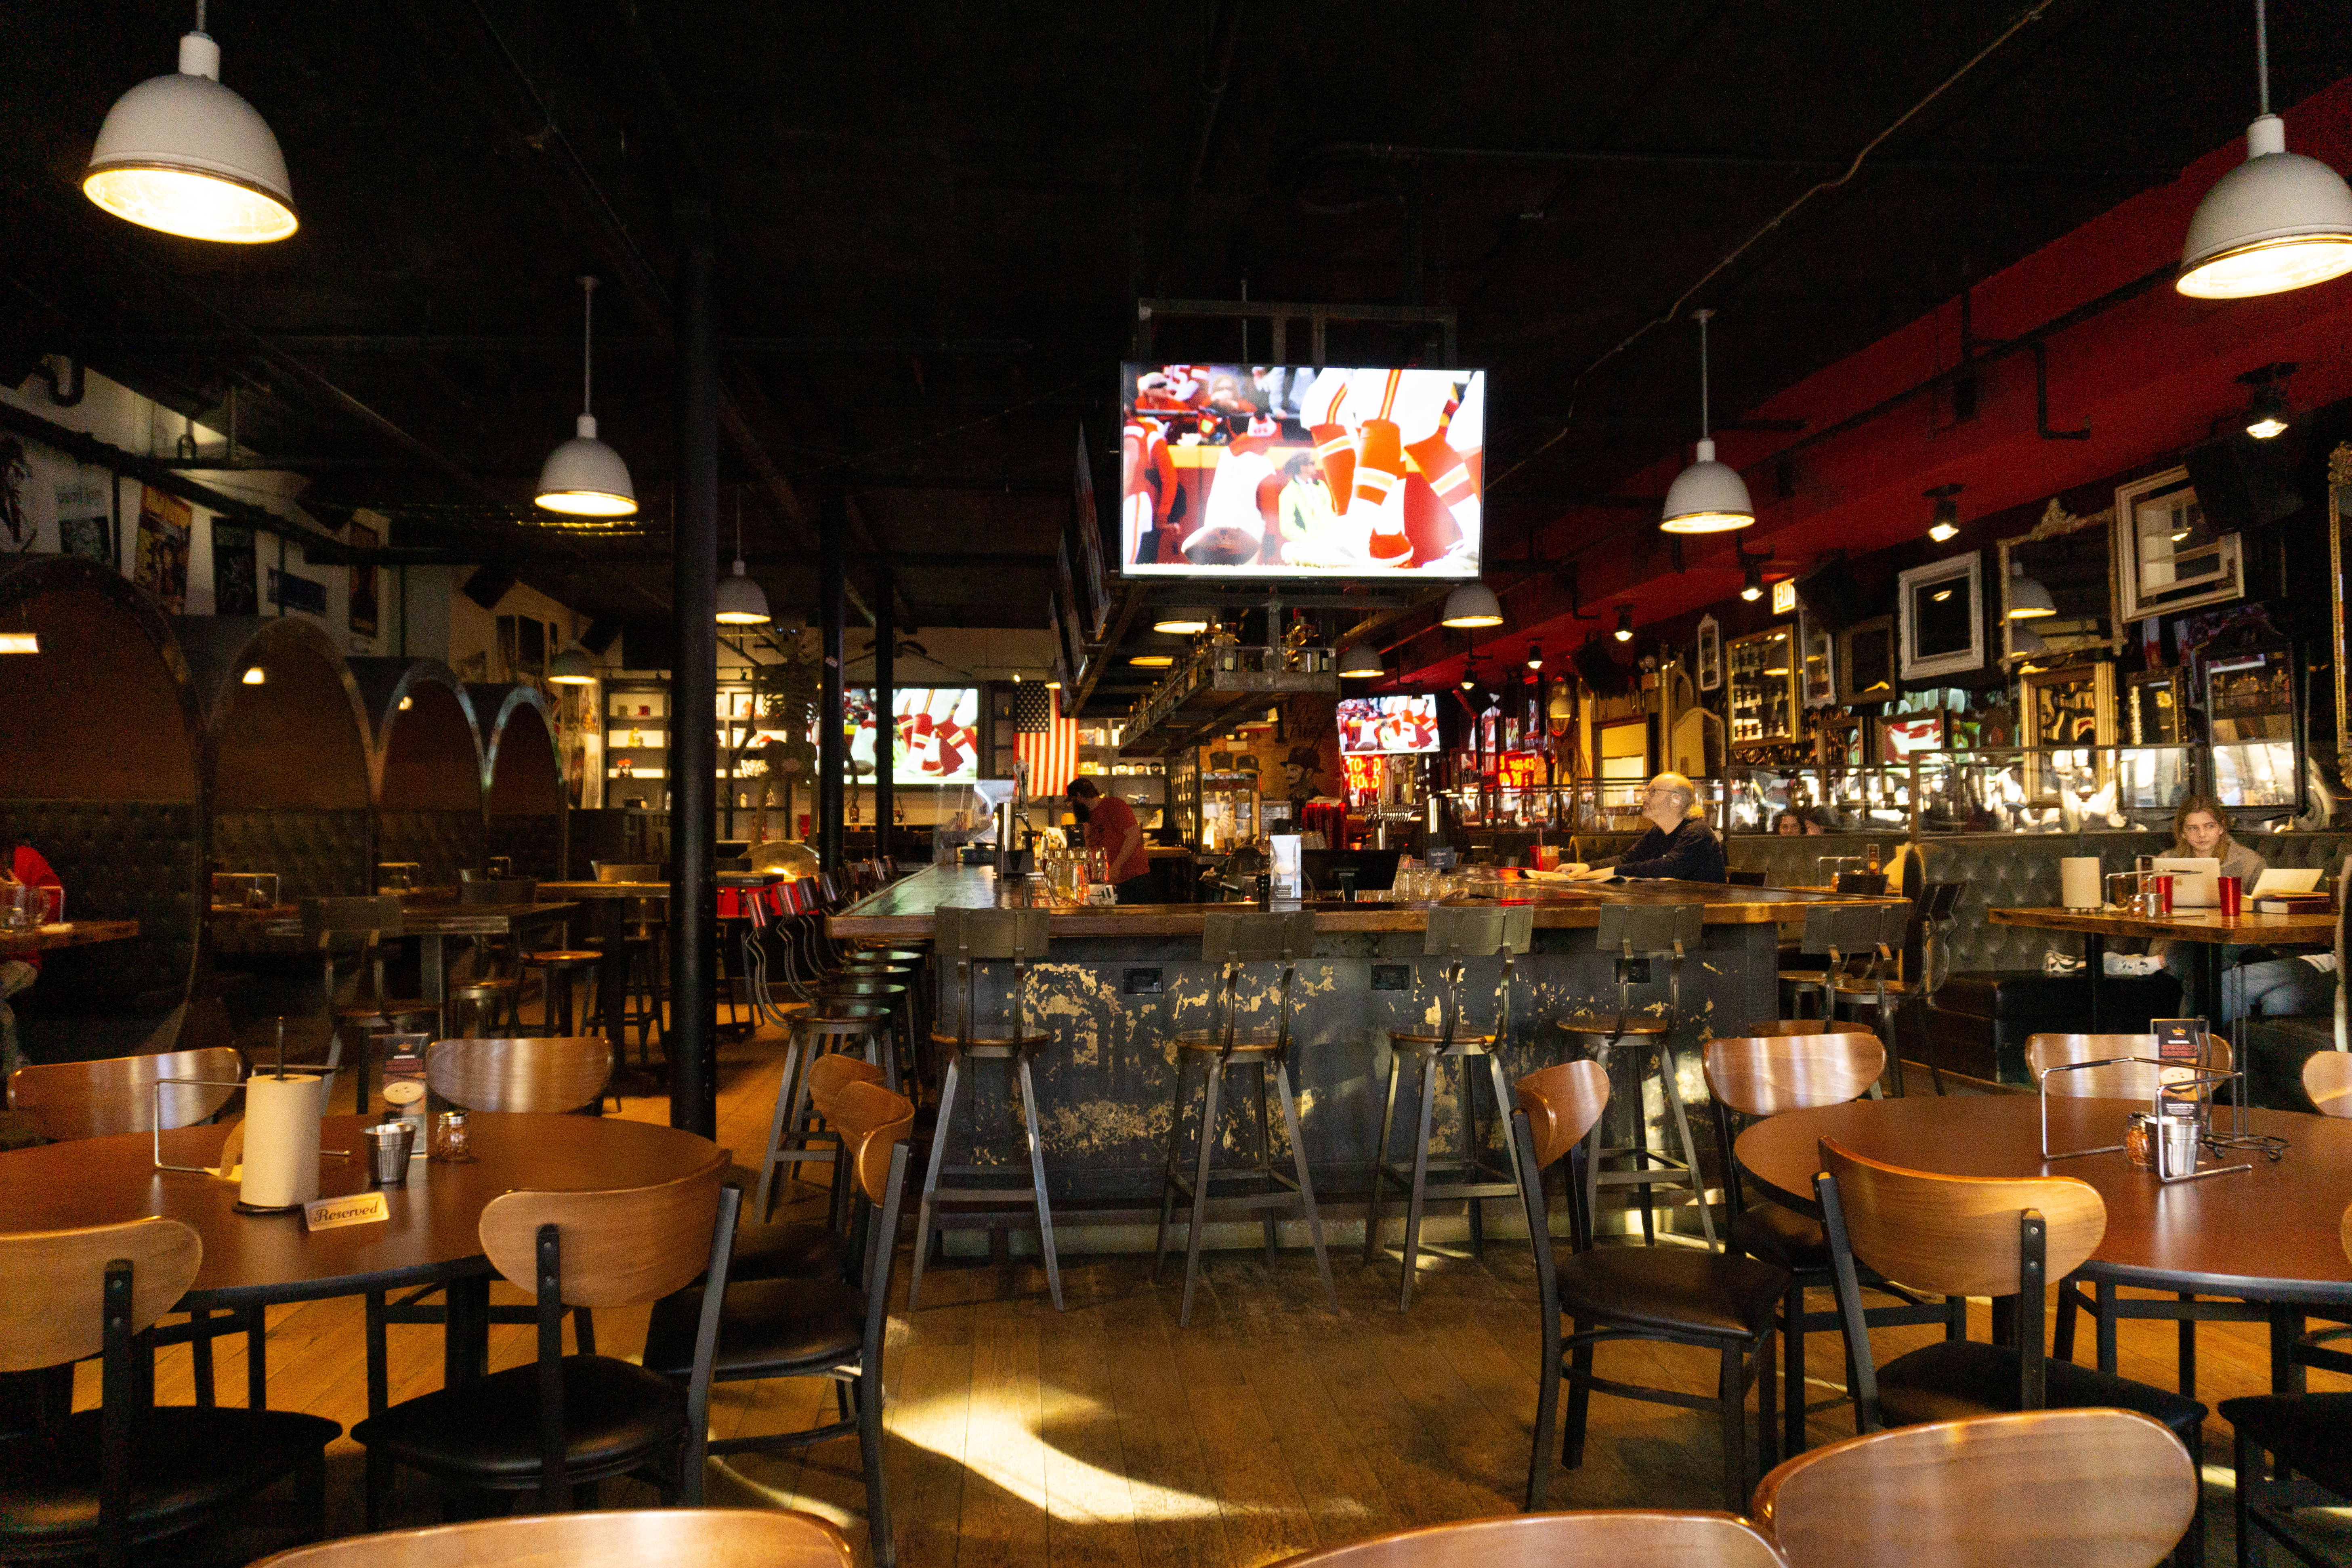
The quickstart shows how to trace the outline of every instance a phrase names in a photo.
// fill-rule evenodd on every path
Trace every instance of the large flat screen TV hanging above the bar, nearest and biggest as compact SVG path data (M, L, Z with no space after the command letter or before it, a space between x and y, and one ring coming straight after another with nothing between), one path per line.
M1120 571L1472 578L1486 371L1120 369Z

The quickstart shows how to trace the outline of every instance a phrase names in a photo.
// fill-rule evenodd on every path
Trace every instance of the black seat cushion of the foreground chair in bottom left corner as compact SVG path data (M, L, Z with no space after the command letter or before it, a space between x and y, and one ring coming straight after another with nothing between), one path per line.
M139 1422L132 1450L132 1535L191 1528L322 1455L341 1432L332 1420L287 1410L158 1406ZM54 1441L0 1443L0 1519L12 1544L56 1549L96 1540L101 1443L96 1410L68 1418Z

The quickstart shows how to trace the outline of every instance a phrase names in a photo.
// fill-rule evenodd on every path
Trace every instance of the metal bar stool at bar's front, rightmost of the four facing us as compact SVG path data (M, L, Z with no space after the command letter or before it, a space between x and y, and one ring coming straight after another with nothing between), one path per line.
M1595 938L1599 952L1616 952L1618 1009L1616 1013L1573 1013L1559 1018L1557 1027L1569 1041L1583 1046L1611 1077L1613 1103L1632 1112L1632 1143L1606 1145L1602 1131L1606 1114L1585 1135L1585 1211L1597 1213L1602 1187L1642 1190L1642 1241L1656 1246L1656 1190L1684 1187L1698 1201L1698 1229L1715 1248L1715 1215L1708 1211L1708 1187L1698 1173L1698 1145L1691 1140L1691 1119L1682 1112L1682 1086L1675 1065L1675 1027L1682 1023L1682 959L1705 936L1705 910L1696 903L1682 905L1604 905ZM1632 971L1658 959L1665 971L1665 1013L1635 1016ZM1632 1041L1635 1072L1630 1093L1618 1098L1613 1081L1618 1046ZM1656 1051L1656 1056L1651 1056ZM1642 1074L1656 1070L1665 1110L1675 1121L1675 1138L1682 1143L1682 1159L1649 1147L1649 1095L1642 1091ZM1604 1171L1604 1159L1628 1159L1630 1168ZM1661 1168L1663 1166L1663 1168Z

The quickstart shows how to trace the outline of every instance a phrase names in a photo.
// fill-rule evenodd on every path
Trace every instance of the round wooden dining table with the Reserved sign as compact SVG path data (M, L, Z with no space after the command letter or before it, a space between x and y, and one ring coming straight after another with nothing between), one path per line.
M325 1117L320 1197L372 1192L360 1128L374 1117ZM727 1159L708 1138L619 1117L475 1112L473 1159L412 1159L405 1187L381 1187L390 1218L308 1232L301 1213L240 1213L238 1187L155 1166L155 1135L82 1138L0 1154L0 1234L113 1225L141 1215L181 1220L205 1241L205 1262L179 1309L245 1309L440 1284L449 1295L447 1382L480 1378L489 1352L489 1281L480 1220L517 1192L607 1192L677 1180ZM228 1126L162 1133L162 1159L212 1166ZM247 1385L261 1406L266 1368L254 1347Z

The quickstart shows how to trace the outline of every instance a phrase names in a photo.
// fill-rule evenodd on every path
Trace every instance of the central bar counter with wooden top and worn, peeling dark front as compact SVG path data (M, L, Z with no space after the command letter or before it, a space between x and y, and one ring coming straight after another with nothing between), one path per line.
M943 907L988 907L1018 903L1030 886L1000 889L993 867L927 867L889 889L851 905L828 922L840 940L910 940L929 938L934 912ZM1555 1018L1592 1009L1616 1009L1613 954L1599 952L1592 929L1609 903L1700 903L1705 936L1700 950L1682 969L1682 1027L1675 1030L1675 1056L1682 1098L1693 1121L1708 1103L1698 1048L1712 1034L1733 1034L1752 1020L1778 1018L1778 945L1795 938L1806 907L1825 903L1820 893L1788 889L1710 886L1710 884L1571 884L1526 886L1534 900L1534 952L1515 961L1510 999L1510 1039L1501 1046L1508 1077L1566 1060L1569 1046L1552 1027ZM1884 900L1865 900L1884 903ZM1035 961L1028 983L1028 1016L1056 1034L1056 1046L1037 1058L1037 1114L1044 1133L1047 1185L1056 1201L1075 1199L1108 1206L1120 1220L1141 1218L1150 1206L1157 1215L1160 1164L1167 1150L1171 1088L1176 1079L1176 1030L1214 1023L1211 990L1216 966L1200 957L1202 917L1214 907L1237 905L1063 905L1051 917L1051 950ZM1388 1030L1437 1027L1437 964L1423 954L1428 905L1317 903L1315 954L1298 964L1296 1013L1291 1023L1291 1081L1298 1091L1298 1114L1308 1143L1308 1164L1327 1218L1345 1237L1357 1227L1359 1201L1371 1182L1371 1152L1381 1128L1381 1100L1388 1086ZM997 966L1004 969L1004 966ZM1668 1006L1665 964L1646 985L1632 987L1632 1011L1663 1013ZM938 1027L953 1032L962 999L953 971L936 966ZM1501 959L1472 959L1463 980L1468 1030L1486 1030L1494 1018ZM1275 1025L1275 966L1258 964L1244 978L1244 1030ZM983 985L978 1025L1002 1023L1002 985ZM1621 1053L1630 1058L1632 1053ZM1018 1107L1009 1100L1004 1072L981 1063L978 1086L981 1159L1023 1161ZM1200 1074L1188 1100L1197 1117ZM1651 1147L1670 1147L1663 1124L1663 1095L1656 1079L1644 1081ZM1630 1081L1621 1074L1621 1093ZM1411 1072L1399 1079L1397 1143L1409 1159L1404 1131L1406 1105L1416 1095ZM1449 1065L1439 1074L1437 1138L1432 1152L1458 1147L1463 1138L1461 1077ZM1254 1107L1244 1119L1232 1107L1221 1128L1223 1159L1256 1152ZM1237 1095L1244 1103L1251 1095ZM1491 1119L1491 1093L1479 1095L1479 1117ZM1632 1095L1625 1093L1632 1103ZM1616 1119L1616 1107L1611 1107ZM957 1112L957 1140L950 1159L962 1157L964 1128ZM1279 1128L1279 1117L1275 1117ZM1698 1121L1703 1159L1712 1164L1712 1138ZM1630 1126L1613 1128L1611 1143L1625 1143ZM1491 1124L1486 1135L1494 1138ZM1185 1138L1190 1143L1190 1135ZM1282 1154L1277 1145L1277 1157ZM1663 1220L1665 1194L1661 1194ZM1458 1206L1439 1206L1439 1215ZM1503 1206L1498 1220L1508 1220ZM1080 1218L1073 1215L1073 1222ZM1456 1220L1458 1222L1458 1220ZM1696 1215L1686 1218L1696 1232ZM1063 1220L1056 1218L1056 1234ZM1108 1227L1077 1246L1131 1244ZM1362 1234L1357 1229L1357 1234ZM1430 1232L1444 1237L1439 1225ZM1150 1232L1143 1232L1148 1244Z

